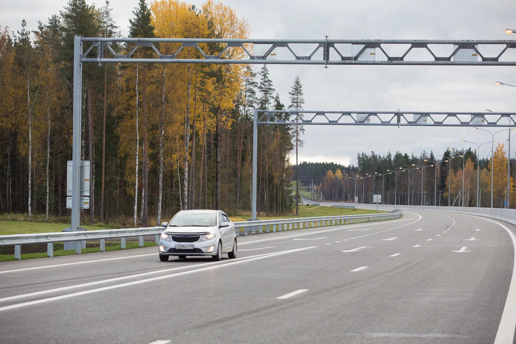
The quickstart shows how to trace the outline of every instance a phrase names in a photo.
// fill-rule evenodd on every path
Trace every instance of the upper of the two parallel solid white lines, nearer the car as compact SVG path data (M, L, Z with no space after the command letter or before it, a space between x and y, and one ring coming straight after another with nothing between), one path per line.
M239 251L242 251L242 250L240 249ZM262 257L262 256L270 255L270 254L280 253L280 252L284 252L284 251L277 251L277 252L271 252L271 253L262 253L260 255L254 255L254 256L249 256L249 257L240 257L240 258L235 258L235 259L232 259L232 260L243 260L243 259L246 259L246 258ZM175 270L187 269L187 268L196 268L196 267L202 267L204 265L213 265L213 264L216 264L216 263L225 263L225 262L227 262L227 260L221 260L221 261L218 261L218 262L211 261L211 262L207 262L207 263L200 263L200 264L193 264L193 265L183 265L181 267L170 268L170 269L162 269L162 270L143 272L143 273L135 274L135 275L128 275L128 276L121 276L121 277L115 277L115 278L102 279L102 280L97 280L95 282L76 284L76 285L72 285L72 286L60 287L60 288L54 288L54 289L46 289L46 290L35 291L35 292L27 293L27 294L7 296L6 298L1 298L0 302L2 302L2 301L9 301L9 300L15 300L15 299L21 299L21 298L28 298L29 296L48 294L48 293L53 293L53 292L63 291L63 290L69 290L69 289L74 289L74 288L89 287L89 286L94 286L94 285L98 285L98 284L102 284L102 283L115 282L117 280L122 280L122 279L127 279L127 278L135 278L135 277L147 276L147 275L152 275L152 274L158 274L158 273L167 272L167 271L175 271Z

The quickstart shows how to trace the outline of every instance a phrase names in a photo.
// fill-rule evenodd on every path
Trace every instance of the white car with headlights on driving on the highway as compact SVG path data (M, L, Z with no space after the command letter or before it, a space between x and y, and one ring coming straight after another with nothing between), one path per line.
M236 258L235 225L223 211L181 210L162 226L166 229L159 237L161 261L169 256L212 256L218 261L223 253Z

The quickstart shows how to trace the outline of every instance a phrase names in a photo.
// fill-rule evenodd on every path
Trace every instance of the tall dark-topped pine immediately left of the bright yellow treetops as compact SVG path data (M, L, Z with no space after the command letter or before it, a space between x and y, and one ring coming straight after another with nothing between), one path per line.
M151 25L151 10L147 7L145 0L140 0L138 8L133 11L134 19L130 19L129 36L133 38L153 38L154 26ZM146 54L143 49L143 54ZM149 157L147 142L147 84L146 84L146 65L142 68L142 134L143 134L143 190L142 190L142 216L140 222L143 226L147 226L148 204L149 204Z

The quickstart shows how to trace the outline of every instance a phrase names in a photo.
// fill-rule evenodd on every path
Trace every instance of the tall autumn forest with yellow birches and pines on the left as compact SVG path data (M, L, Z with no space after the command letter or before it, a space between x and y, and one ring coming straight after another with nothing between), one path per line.
M128 23L102 7L69 0L27 29L0 26L0 212L26 220L66 222L67 161L72 145L73 37L247 38L245 18L220 2L140 0ZM134 46L115 45L117 54ZM169 53L178 48L162 43ZM146 50L148 49L148 50ZM203 46L212 55L217 44ZM237 54L228 50L226 58ZM150 47L138 57L152 54ZM199 54L186 47L178 56ZM181 209L251 208L252 113L300 109L302 85L292 77L285 105L266 65L84 64L82 160L90 162L85 223L154 226ZM259 129L258 207L293 209L289 156L297 128Z

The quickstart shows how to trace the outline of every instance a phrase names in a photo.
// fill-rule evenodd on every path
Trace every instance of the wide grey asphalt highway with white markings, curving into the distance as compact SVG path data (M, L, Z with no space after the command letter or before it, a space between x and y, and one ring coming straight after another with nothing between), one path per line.
M0 342L511 343L515 232L410 210L239 237L220 262L155 247L6 262Z

